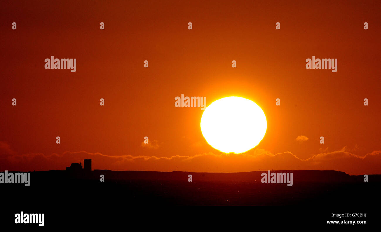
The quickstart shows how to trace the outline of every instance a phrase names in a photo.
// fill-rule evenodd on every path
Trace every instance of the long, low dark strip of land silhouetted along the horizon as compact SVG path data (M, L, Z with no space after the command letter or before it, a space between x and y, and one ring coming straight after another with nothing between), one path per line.
M17 172L17 171L8 171ZM78 171L34 171L30 172L32 181L41 181L46 177L65 179L97 179L101 174L106 176L107 181L117 180L150 180L150 181L186 181L188 175L191 174L193 182L259 182L261 183L261 174L266 171L251 171L239 173L197 173L187 171L112 171L112 170L93 170L85 173L83 170ZM293 182L363 182L364 176L351 176L342 171L333 170L274 170L271 173L293 173ZM381 182L381 174L368 175L371 182Z

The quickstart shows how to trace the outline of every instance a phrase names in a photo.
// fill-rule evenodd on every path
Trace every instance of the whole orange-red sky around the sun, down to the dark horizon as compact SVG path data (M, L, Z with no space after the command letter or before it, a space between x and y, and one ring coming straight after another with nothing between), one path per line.
M63 170L93 158L93 169L381 174L380 7L3 2L0 171ZM76 58L77 71L44 69L51 56ZM312 56L337 58L338 71L306 69ZM264 139L245 154L219 153L202 136L203 111L174 107L181 94L206 96L207 105L251 99L267 117ZM296 141L301 135L309 139ZM142 146L144 136L152 146Z

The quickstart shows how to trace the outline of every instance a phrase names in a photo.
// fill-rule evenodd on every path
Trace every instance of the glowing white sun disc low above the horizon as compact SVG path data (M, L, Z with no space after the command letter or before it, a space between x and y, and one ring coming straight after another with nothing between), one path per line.
M239 154L261 142L267 121L255 102L241 97L226 97L204 110L200 126L202 135L214 149Z

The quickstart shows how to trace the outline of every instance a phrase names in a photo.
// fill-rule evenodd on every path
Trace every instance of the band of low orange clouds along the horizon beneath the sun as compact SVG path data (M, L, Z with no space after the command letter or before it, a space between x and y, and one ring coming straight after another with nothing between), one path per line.
M109 156L86 151L63 154L17 154L0 142L0 171L65 170L74 162L92 159L93 169L245 172L258 170L337 170L352 175L381 174L381 151L364 156L347 151L322 152L308 159L300 159L291 152L272 154L264 149L253 149L245 154L205 153L194 156L171 157L120 155Z

